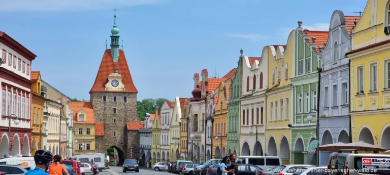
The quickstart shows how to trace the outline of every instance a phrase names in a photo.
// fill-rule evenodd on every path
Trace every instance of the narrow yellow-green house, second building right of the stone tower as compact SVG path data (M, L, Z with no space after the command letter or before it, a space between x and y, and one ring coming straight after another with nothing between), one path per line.
M161 155L161 116L160 110L156 110L156 117L154 118L152 125L152 164L160 161ZM150 166L151 167L151 166Z

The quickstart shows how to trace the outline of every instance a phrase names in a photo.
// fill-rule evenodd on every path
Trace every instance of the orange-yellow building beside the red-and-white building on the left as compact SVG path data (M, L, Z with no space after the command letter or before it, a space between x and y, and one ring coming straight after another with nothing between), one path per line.
M39 71L31 71L31 155L43 148L43 135L47 126L43 123L43 111L46 98L41 96L41 74Z

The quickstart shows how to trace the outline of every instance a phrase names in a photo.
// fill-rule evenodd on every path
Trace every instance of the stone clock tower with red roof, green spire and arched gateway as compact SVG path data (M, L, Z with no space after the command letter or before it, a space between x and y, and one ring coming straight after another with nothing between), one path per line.
M95 116L95 152L114 146L119 163L123 163L124 159L139 158L138 129L128 126L141 121L137 115L138 91L125 54L119 49L116 13L110 37L111 48L104 52L89 94Z

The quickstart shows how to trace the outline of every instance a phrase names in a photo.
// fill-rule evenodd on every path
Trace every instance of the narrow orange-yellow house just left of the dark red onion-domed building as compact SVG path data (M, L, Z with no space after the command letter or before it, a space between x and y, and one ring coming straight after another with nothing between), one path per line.
M180 157L184 157L184 160L188 160L187 148L188 148L188 101L184 99L180 119Z

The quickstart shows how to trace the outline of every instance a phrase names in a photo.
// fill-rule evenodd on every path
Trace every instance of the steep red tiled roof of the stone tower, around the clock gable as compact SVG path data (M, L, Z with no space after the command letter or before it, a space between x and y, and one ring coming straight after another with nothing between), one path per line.
M132 74L128 69L126 57L124 56L124 52L119 50L119 58L117 62L114 62L111 56L111 50L107 49L104 52L102 62L100 64L98 74L96 75L95 82L91 88L91 92L106 92L105 85L108 82L108 75L114 73L115 70L118 69L119 73L122 75L122 82L124 84L125 91L127 93L138 93L136 86L134 85ZM115 91L109 91L115 92Z

